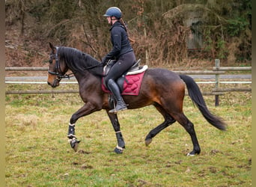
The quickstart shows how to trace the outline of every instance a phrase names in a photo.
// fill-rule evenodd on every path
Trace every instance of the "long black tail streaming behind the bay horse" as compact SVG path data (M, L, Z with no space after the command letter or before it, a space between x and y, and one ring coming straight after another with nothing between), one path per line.
M197 105L204 118L217 129L225 130L227 126L226 123L222 120L222 118L210 113L206 103L204 102L204 97L194 79L186 75L179 76L180 79L183 79L183 82L185 82L190 98L193 102L195 102L195 105Z

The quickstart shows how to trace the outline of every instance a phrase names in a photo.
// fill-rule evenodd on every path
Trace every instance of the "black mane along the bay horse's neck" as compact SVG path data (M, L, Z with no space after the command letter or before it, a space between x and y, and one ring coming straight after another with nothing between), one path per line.
M58 47L58 55L60 55L60 58L64 59L65 63L73 73L80 73L83 75L85 74L85 71L88 70L95 76L103 75L103 66L100 61L97 61L97 59L93 58L91 55L81 52L78 49L61 46Z

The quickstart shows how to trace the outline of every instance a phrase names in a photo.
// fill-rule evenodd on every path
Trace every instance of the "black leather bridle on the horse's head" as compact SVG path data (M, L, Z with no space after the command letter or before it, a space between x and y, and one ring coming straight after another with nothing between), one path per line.
M70 77L73 77L70 75L73 75L74 73L66 74L61 71L61 64L58 61L58 47L56 47L56 54L50 55L50 61L52 59L55 60L55 71L53 72L53 71L48 70L49 74L51 74L53 76L57 76L55 79L58 81L60 81L61 79L70 79Z

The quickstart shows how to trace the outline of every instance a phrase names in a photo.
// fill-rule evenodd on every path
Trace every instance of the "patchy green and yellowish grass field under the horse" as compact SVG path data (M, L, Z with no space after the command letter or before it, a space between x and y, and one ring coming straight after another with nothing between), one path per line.
M8 88L7 88L8 89ZM40 89L40 88L39 88ZM150 129L162 123L153 107L119 114L126 150L118 155L115 132L106 111L76 123L78 152L67 142L71 114L82 106L78 94L6 96L7 186L252 186L252 93L226 93L220 106L204 96L223 117L221 132L186 96L184 113L194 123L199 156L189 134L174 123L145 147Z

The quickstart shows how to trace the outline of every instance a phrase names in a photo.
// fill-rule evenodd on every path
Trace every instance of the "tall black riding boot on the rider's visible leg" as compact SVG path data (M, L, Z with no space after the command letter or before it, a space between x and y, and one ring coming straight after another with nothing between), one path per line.
M111 91L113 93L115 101L116 101L115 108L110 110L109 112L116 113L118 111L127 110L127 104L124 102L124 99L121 96L118 85L115 83L115 81L113 79L109 79L108 88L109 88L109 91Z

